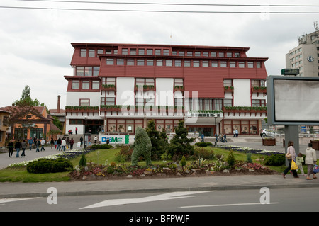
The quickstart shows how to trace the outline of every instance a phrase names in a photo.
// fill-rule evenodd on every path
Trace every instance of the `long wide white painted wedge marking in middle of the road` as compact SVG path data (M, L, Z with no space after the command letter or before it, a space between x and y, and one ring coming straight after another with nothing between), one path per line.
M211 192L211 191L181 191L181 192L164 193L158 196L148 196L143 198L111 199L111 200L105 200L101 203L88 205L86 207L80 208L80 210L87 209L87 208L99 208L99 207L111 206L111 205L125 205L125 204L132 204L132 203L155 202L155 201L169 200L169 199L175 199L175 198L189 198L194 196L188 196L188 195L197 194L197 193L205 193L205 192Z

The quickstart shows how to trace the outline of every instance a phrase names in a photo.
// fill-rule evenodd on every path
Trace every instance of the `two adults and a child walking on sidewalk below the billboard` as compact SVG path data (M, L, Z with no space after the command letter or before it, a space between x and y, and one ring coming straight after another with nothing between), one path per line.
M284 178L286 178L286 174L291 171L291 174L293 174L294 178L299 178L297 171L300 169L301 174L303 174L303 176L305 176L304 172L303 172L303 162L305 162L305 164L307 164L307 180L312 180L310 178L310 175L313 174L313 179L317 179L317 176L315 176L315 173L313 172L313 168L314 166L317 164L317 156L315 154L315 149L313 149L313 144L309 143L308 147L306 148L306 157L305 160L303 161L303 155L301 153L296 154L296 151L293 147L293 141L289 141L288 142L288 148L287 148L287 153L286 153L286 158L288 159L289 162L289 166L287 166L287 168L284 170L284 172L282 172L282 176ZM293 169L291 168L291 166L293 165L293 163L296 163L296 165L298 166L298 169Z

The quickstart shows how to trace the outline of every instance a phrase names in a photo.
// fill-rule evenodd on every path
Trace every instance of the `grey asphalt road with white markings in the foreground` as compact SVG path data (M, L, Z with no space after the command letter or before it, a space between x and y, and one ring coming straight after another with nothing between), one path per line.
M318 210L318 193L317 188L61 197L48 193L47 198L0 199L0 211L126 212L126 217L141 216L141 212L154 216L168 212L179 213L179 215L184 213L192 215L191 213L194 212L313 212ZM125 222L125 219L121 220Z

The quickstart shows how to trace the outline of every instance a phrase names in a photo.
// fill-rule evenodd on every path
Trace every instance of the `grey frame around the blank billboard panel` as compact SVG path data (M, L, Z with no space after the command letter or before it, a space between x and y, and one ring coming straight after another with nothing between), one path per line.
M275 90L274 81L276 79L295 81L318 81L317 77L291 77L291 76L268 76L267 77L267 122L268 125L319 125L319 120L276 120Z

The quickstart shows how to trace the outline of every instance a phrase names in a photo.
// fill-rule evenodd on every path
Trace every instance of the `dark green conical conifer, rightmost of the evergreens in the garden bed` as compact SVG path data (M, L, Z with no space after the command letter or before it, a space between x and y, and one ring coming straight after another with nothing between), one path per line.
M175 134L167 149L168 154L175 160L181 159L183 155L186 159L191 157L191 155L194 154L194 147L191 146L191 142L194 141L194 138L189 139L187 137L188 132L184 127L184 120L179 121L179 125L175 129Z

